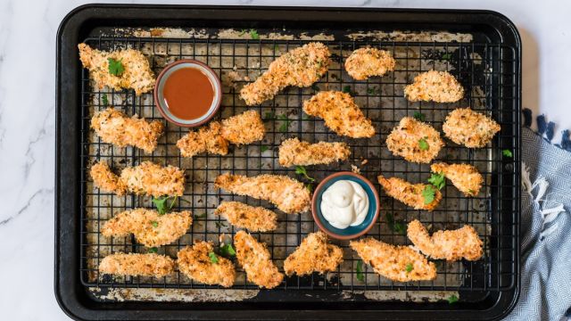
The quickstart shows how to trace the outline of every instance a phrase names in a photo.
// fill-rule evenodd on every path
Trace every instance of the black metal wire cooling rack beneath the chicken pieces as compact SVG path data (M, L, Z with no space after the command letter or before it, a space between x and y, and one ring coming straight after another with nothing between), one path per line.
M303 45L301 40L244 40L244 39L174 39L138 37L92 37L85 42L96 48L112 50L133 47L143 51L153 66L155 74L168 63L182 58L192 58L207 63L219 73L223 81L223 102L218 118L227 118L248 109L239 99L239 88L267 69L282 53ZM337 289L341 290L431 290L431 291L507 291L514 284L517 271L516 219L517 208L517 160L501 156L504 149L517 146L517 61L515 48L501 44L458 42L378 42L378 41L323 41L333 53L333 63L327 75L309 88L290 87L275 99L253 107L260 111L267 134L263 142L234 147L227 156L201 154L192 159L181 158L176 141L186 134L186 129L165 122L165 134L153 154L133 148L116 148L103 144L89 128L94 111L105 108L105 101L128 115L138 114L147 119L161 119L153 107L153 96L135 96L132 91L99 91L91 86L87 70L82 71L82 166L81 166L81 281L96 287L152 287L152 288L217 288L198 284L176 273L163 278L100 276L97 266L100 259L117 252L146 252L133 237L106 238L100 227L112 215L136 207L152 207L150 198L135 195L115 196L95 188L88 175L89 166L96 160L109 161L114 169L137 165L141 161L154 161L161 165L175 165L186 169L185 202L178 202L174 210L192 210L194 223L178 242L162 246L159 253L176 258L182 247L192 240L211 240L219 243L219 235L226 234L227 241L236 229L223 218L215 217L213 210L222 200L237 200L275 210L268 202L231 195L213 187L214 178L220 173L234 172L254 176L261 173L285 174L296 177L294 169L285 169L277 163L277 146L287 137L298 136L310 142L343 141L351 146L349 161L327 166L308 167L308 173L317 181L338 170L351 170L352 166L368 177L381 195L381 219L368 233L377 239L393 244L410 244L399 228L413 218L419 218L432 230L458 228L464 224L474 226L484 239L484 259L476 262L436 261L438 276L430 282L394 283L377 276L371 268L365 268L364 279L357 278L359 258L348 248L348 243L333 241L343 247L343 264L326 276L289 277L278 289ZM394 72L382 78L355 81L343 69L343 57L352 50L372 45L393 53L397 61ZM409 103L403 98L403 88L422 70L450 70L466 88L466 96L459 103ZM245 77L245 78L244 78ZM234 80L234 81L233 81ZM236 90L237 88L237 90ZM350 92L356 103L373 120L377 129L371 139L349 139L336 136L324 128L321 119L308 117L302 112L302 101L318 90L342 90ZM105 98L106 97L106 98ZM437 161L468 162L484 175L482 192L475 198L463 197L451 184L443 189L443 202L426 212L411 210L387 197L377 184L377 175L403 177L411 182L425 182L430 175L429 165L418 165L395 157L386 149L385 138L398 121L415 111L425 115L426 121L441 129L445 115L457 107L470 106L476 111L492 115L502 127L491 145L482 149L467 149L450 141L440 152ZM514 151L514 154L517 152ZM310 213L285 215L278 212L278 228L273 233L255 233L255 237L267 243L274 262L279 268L283 260L308 233L317 230ZM388 216L387 216L388 215ZM387 218L393 224L387 224ZM243 270L237 266L235 289L254 289L247 283Z

